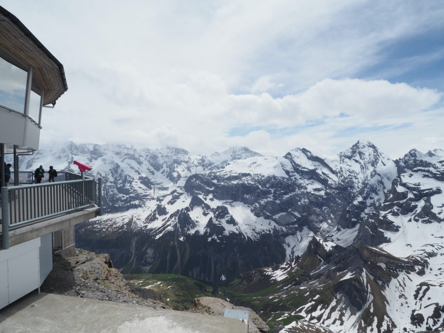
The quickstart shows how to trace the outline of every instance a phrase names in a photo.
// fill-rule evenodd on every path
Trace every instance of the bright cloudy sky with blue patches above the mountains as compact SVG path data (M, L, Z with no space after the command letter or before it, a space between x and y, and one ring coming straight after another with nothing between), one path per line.
M16 1L63 64L50 141L391 157L444 148L442 1Z

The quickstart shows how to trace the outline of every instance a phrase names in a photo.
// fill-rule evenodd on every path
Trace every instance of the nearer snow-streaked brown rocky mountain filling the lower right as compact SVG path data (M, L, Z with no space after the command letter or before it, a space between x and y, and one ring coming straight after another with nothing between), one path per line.
M280 333L444 331L444 154L412 150L395 164L350 246L315 235L301 257L231 288L261 291L255 303L285 322Z

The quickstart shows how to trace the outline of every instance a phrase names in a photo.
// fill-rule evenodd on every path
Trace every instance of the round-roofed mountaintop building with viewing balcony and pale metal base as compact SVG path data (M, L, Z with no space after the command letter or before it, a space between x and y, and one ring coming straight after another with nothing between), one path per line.
M60 173L57 182L32 184L32 172L19 172L19 157L39 149L43 108L54 107L67 84L63 65L3 7L0 73L1 309L40 288L53 251L74 254L74 225L100 208L92 178ZM8 187L6 154L14 160Z

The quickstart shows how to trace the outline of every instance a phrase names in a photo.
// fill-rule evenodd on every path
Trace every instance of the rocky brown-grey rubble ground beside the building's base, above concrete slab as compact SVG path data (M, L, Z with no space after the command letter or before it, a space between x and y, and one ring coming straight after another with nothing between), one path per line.
M142 294L132 288L113 267L108 254L95 254L82 249L76 249L74 257L53 257L53 269L43 283L41 291L144 305L154 309L169 309L163 303L149 299L149 292L145 289Z

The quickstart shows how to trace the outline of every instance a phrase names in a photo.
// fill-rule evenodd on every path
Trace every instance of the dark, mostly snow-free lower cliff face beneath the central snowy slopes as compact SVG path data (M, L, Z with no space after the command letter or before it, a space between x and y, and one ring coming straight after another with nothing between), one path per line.
M110 256L117 258L114 264L121 267L123 273L172 273L204 281L220 281L222 275L238 276L285 260L285 251L272 235L263 235L256 241L242 235L226 236L223 235L224 229L211 218L204 238L187 235L190 220L184 216L184 213L179 214L178 218L183 220L177 228L167 231L160 241L143 230L131 230L130 226L125 226L118 234L110 235L112 240L101 236L88 245L102 251L112 243ZM79 246L85 245L84 240L88 239L84 233L85 228L77 230ZM182 236L178 239L175 235ZM258 250L252 252L252 247Z

